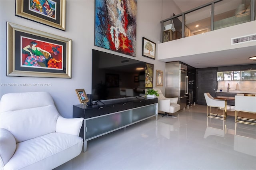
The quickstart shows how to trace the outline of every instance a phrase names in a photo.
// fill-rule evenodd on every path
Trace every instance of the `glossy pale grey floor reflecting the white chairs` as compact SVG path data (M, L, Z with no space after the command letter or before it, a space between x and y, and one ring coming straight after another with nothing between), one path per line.
M95 138L55 170L255 170L256 126L206 111L195 105Z

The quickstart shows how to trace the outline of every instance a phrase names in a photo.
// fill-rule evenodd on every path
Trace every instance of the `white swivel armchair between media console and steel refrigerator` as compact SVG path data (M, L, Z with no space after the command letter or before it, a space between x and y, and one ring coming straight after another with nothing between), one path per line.
M167 98L164 97L162 91L158 88L154 88L155 91L158 91L158 111L164 112L166 116L168 113L175 113L180 110L180 105L178 104L178 97ZM172 116L172 115L169 115ZM172 116L174 117L174 116Z

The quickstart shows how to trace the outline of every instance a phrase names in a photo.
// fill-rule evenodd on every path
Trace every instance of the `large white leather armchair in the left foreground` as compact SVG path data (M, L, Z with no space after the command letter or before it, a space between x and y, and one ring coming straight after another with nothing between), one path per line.
M47 92L8 93L0 102L0 168L48 170L78 156L83 118L66 119Z

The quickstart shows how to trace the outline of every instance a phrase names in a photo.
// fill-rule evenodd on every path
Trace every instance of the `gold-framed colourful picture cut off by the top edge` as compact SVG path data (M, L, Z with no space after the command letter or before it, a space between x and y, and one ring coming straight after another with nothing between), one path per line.
M15 15L65 31L66 0L16 0Z

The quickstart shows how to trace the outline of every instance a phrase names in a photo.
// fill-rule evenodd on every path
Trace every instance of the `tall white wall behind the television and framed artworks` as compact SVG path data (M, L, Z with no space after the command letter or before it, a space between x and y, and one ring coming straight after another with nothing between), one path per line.
M136 58L154 64L155 70L163 70L165 63L142 56L142 37L153 42L160 41L160 21L172 15L162 11L163 4L172 2L161 0L137 1L137 45ZM166 9L166 6L165 6ZM178 12L180 13L180 12ZM38 77L12 77L6 76L6 22L33 28L50 34L72 39L72 79L38 78ZM157 49L156 44L156 49ZM66 2L66 32L45 26L24 18L15 16L15 0L0 0L0 96L13 92L48 91L57 106L60 114L66 118L72 117L72 106L79 104L75 89L85 89L91 93L91 51L97 49L122 55L107 49L94 46L94 0L67 0ZM6 87L4 83L51 83L51 87ZM155 75L154 75L155 86ZM15 103L13 103L15 105Z

